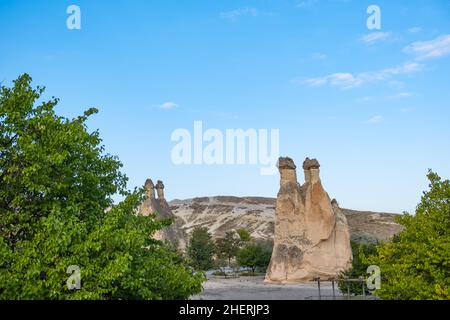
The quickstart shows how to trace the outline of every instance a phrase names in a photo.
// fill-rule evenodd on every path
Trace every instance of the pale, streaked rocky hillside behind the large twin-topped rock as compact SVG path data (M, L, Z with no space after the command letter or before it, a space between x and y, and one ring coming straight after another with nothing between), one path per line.
M177 225L184 234L195 227L207 227L213 237L245 228L255 239L272 240L276 199L261 197L204 197L169 202ZM359 242L384 240L401 230L395 214L342 209L350 226L352 239Z

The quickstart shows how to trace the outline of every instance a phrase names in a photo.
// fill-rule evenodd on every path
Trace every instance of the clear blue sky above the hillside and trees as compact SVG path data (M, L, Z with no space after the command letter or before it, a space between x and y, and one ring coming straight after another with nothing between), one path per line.
M130 188L276 196L259 166L175 166L171 134L196 120L279 129L281 154L318 158L343 207L414 211L428 168L450 177L450 1L0 0L0 30L0 81L29 73L68 117L99 108L89 127Z

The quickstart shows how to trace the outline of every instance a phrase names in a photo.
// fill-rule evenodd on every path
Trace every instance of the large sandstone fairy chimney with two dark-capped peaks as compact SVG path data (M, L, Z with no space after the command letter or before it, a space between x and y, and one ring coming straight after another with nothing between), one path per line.
M280 158L281 175L272 259L266 282L306 282L335 277L352 261L347 219L325 192L319 162L303 163L305 183L297 182L294 161Z

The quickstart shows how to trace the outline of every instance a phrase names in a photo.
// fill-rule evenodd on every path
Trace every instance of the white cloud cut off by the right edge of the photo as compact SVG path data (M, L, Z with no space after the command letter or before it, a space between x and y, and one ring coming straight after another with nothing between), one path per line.
M416 60L430 60L450 54L450 34L442 35L430 41L418 41L403 49L416 56Z

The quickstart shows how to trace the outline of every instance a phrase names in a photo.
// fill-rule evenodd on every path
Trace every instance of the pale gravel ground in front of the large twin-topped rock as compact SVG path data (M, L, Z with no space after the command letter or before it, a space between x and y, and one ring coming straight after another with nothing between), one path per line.
M192 300L305 300L318 299L319 295L316 283L267 284L264 277L211 277L203 287L203 293ZM331 283L321 283L321 294L332 299ZM336 296L342 297L337 287Z

